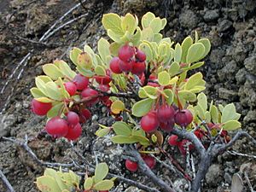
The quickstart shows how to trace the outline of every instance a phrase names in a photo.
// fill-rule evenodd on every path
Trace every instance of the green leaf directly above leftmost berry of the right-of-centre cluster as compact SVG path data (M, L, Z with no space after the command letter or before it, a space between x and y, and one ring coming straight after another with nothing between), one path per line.
M132 114L136 117L142 117L150 111L153 104L154 100L150 98L136 102L132 107Z

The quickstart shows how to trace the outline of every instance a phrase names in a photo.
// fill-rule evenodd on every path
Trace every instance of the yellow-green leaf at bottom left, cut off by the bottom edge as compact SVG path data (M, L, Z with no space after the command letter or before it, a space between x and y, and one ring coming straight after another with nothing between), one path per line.
M49 176L37 177L37 186L38 189L42 192L53 192L61 191L58 183L55 181L55 178Z

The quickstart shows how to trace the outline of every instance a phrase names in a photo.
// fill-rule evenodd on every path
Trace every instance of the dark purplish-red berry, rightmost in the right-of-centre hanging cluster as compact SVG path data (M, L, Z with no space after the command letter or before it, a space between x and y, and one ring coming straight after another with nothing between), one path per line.
M175 123L180 126L187 126L193 120L193 114L189 111L189 109L183 109L177 111L174 116Z

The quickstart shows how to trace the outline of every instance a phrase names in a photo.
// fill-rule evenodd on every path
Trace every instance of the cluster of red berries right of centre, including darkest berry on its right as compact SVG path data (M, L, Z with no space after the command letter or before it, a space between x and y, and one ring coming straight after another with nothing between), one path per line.
M151 111L141 119L143 131L153 132L159 126L164 131L172 131L174 124L187 126L193 120L193 115L189 109L175 109L172 106L163 104L157 110Z

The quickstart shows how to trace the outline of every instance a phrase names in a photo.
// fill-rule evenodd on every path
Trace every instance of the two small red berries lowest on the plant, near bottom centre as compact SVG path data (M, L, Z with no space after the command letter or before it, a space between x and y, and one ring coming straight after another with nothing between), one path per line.
M143 155L142 157L143 157L143 160L146 163L146 165L150 169L154 169L154 166L156 164L156 160L154 159L154 157L151 157L148 155ZM125 160L125 167L127 170L129 170L131 172L137 172L137 169L138 169L137 162L132 161L132 160Z

